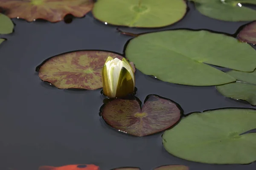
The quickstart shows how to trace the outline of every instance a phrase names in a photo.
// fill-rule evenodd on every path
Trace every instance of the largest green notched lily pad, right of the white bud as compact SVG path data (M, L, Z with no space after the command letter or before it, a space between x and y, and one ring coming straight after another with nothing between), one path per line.
M250 45L204 30L142 34L128 43L125 54L144 74L184 85L221 85L236 81L204 63L239 71L256 68L256 51Z

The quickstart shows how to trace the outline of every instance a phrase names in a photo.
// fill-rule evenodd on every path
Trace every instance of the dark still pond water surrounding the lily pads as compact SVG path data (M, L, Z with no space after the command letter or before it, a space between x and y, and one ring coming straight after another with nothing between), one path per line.
M192 4L175 25L157 29L120 28L142 33L177 28L210 29L235 34L248 22L224 22L201 15ZM75 50L108 50L121 53L131 38L93 19L92 14L70 23L27 23L15 19L15 33L2 36L0 45L0 170L37 170L39 166L96 164L101 170L184 164L191 170L255 170L247 165L214 165L186 161L167 153L162 133L142 138L106 125L99 117L102 89L59 90L38 78L35 67L48 57ZM256 47L254 47L256 48ZM220 68L223 70L223 68ZM216 108L255 108L228 99L212 87L192 87L162 82L137 70L137 97L144 101L157 94L179 103L184 113ZM189 139L187 139L189 143Z

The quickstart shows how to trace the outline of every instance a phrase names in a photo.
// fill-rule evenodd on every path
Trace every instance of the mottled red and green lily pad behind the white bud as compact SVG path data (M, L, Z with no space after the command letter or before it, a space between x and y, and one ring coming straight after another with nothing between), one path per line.
M108 51L73 51L48 59L38 69L38 75L43 81L60 89L102 88L102 68L108 56L123 58Z

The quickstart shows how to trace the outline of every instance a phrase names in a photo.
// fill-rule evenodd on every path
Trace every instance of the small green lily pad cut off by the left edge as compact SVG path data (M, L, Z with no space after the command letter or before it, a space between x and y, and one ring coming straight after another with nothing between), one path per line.
M4 14L0 13L0 34L12 33L14 24L12 20Z

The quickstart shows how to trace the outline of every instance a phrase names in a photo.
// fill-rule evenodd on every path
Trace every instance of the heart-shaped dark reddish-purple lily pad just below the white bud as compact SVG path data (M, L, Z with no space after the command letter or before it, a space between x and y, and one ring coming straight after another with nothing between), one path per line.
M102 108L108 125L140 137L168 129L180 119L180 113L175 102L156 95L148 95L142 109L136 99L114 99Z

